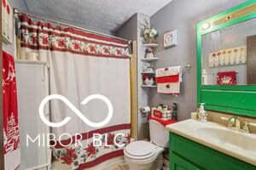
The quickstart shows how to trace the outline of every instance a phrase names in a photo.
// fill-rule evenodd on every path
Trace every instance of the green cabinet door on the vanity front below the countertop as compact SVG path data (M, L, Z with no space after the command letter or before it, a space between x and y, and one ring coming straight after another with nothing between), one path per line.
M170 164L171 170L201 170L199 167L196 167L173 152L171 152Z

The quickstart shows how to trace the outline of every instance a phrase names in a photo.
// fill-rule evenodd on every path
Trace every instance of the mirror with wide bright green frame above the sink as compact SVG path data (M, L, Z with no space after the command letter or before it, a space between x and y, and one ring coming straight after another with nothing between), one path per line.
M197 25L197 102L256 117L256 0Z

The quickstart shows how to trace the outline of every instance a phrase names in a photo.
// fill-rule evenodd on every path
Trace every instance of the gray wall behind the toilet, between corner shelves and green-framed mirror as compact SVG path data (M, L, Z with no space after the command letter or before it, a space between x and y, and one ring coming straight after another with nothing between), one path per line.
M192 65L191 70L183 75L183 89L180 96L154 92L151 105L160 103L172 105L172 102L177 102L178 120L189 118L190 112L196 110L196 24L243 2L246 0L173 0L151 17L151 26L160 33L158 37L160 60L156 67ZM175 29L177 29L177 47L163 48L164 33Z

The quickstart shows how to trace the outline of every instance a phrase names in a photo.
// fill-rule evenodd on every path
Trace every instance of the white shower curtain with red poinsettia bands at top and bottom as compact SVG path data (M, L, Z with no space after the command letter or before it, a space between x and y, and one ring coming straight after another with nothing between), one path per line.
M52 128L57 139L55 158L73 169L101 169L106 166L103 162L123 156L123 148L113 145L113 139L115 134L123 133L116 141L119 144L130 142L128 42L71 27L52 26L32 20L26 14L20 15L20 39L20 56L30 58L37 54L40 60L47 61L50 94L65 96L92 122L105 119L107 107L100 100L81 105L84 98L90 94L102 94L113 104L112 120L106 127L95 128L84 124L67 105L58 100L51 101L51 122L72 117L65 126ZM82 135L81 142L74 142L76 133ZM106 140L102 138L101 146L92 144L93 133L105 135Z

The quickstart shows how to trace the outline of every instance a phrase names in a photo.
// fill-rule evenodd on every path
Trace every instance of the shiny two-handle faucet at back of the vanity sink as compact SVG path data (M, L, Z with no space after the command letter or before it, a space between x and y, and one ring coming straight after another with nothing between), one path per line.
M229 119L228 127L235 127L238 131L243 130L246 133L250 133L248 124L248 122L241 121L237 116L231 116Z

